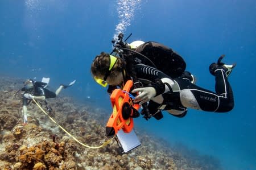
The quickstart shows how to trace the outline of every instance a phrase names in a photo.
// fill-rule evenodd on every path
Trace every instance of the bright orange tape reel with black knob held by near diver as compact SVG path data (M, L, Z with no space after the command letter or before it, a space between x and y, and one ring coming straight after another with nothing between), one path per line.
M113 113L106 125L107 136L117 134L119 130L129 133L133 130L133 117L139 116L139 105L134 104L129 94L133 81L128 80L123 89L115 89L110 96Z

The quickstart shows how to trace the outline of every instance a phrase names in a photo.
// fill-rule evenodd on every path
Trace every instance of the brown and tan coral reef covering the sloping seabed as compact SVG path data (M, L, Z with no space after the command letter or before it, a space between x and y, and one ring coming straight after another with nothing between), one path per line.
M138 130L142 146L128 154L122 154L115 140L100 149L86 148L65 134L34 103L28 105L28 124L23 126L22 101L20 97L15 99L22 81L0 77L0 167L5 170L219 168L210 161L207 165L195 164L162 139ZM92 109L64 96L49 99L48 103L52 107L49 114L82 143L99 146L106 140L109 114L104 110Z

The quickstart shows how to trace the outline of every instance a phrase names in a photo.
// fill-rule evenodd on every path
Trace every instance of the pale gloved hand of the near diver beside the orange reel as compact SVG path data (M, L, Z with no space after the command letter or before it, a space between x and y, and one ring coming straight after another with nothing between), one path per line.
M152 97L155 97L156 95L156 90L152 87L137 88L131 91L131 93L137 92L139 92L139 95L134 98L134 102L139 102L140 105L142 105L144 102L149 101Z

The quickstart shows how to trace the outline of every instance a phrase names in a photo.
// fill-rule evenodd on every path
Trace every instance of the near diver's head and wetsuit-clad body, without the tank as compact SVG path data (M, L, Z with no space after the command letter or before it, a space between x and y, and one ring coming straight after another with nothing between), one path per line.
M140 49L142 47L140 46L136 48ZM216 93L195 85L194 77L190 73L185 77L182 74L172 78L160 69L135 63L135 71L143 88L132 91L132 93L138 93L134 102L140 102L140 104L148 102L150 114L156 119L163 117L161 110L166 110L180 118L187 114L187 108L218 113L232 110L234 99L228 76L235 64L222 63L223 57L224 55L218 59L217 63L212 63L209 67L210 73L215 77ZM131 79L130 74L126 71L126 61L122 57L112 56L105 52L101 52L93 60L91 72L98 83L109 84L111 89L108 89L108 92L111 92L113 87L122 89L123 84ZM143 114L143 110L141 114Z

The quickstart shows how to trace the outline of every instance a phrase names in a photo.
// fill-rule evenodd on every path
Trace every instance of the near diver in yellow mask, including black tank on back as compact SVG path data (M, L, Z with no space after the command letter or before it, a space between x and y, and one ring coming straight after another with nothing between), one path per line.
M162 119L162 110L182 118L187 114L187 108L217 113L233 109L233 92L228 82L228 76L236 64L222 63L224 55L218 59L217 63L212 63L209 67L210 74L215 77L216 81L216 92L214 93L195 85L195 77L185 71L184 60L171 48L155 42L134 44L125 44L124 46L135 51L127 55L133 56L135 72L143 87L135 88L131 90L131 93L138 94L134 98L134 103L139 102L141 105L148 103L150 117ZM170 61L164 57L168 53ZM123 55L124 57L111 54L101 52L91 65L94 80L102 86L109 84L109 93L114 88L122 89L127 80L133 79L131 73L127 71L126 54ZM143 57L150 55L155 57L153 63L143 61ZM149 60L147 59L147 61ZM144 114L143 109L141 114Z

